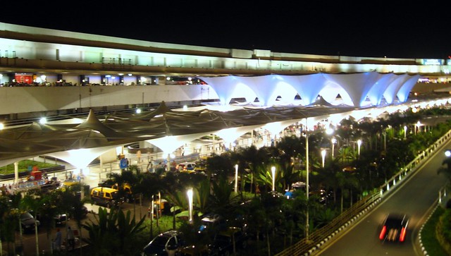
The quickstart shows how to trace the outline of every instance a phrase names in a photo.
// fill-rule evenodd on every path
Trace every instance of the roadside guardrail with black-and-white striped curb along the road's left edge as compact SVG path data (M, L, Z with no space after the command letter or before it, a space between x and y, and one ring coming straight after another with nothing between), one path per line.
M364 197L362 200L356 202L352 205L352 207L345 210L345 212L342 212L338 217L335 217L335 219L333 219L333 221L326 226L310 233L308 240L303 238L289 248L285 248L285 250L279 252L276 256L311 255L312 253L321 250L321 246L381 202L383 197L389 191L392 191L395 187L397 187L397 185L399 185L402 181L404 181L406 176L417 171L424 160L429 155L435 153L436 150L442 147L448 140L450 140L450 138L451 130L433 143L433 145L424 150L424 152L418 154L414 160L404 166L392 178L377 188L376 192L373 192L372 194Z

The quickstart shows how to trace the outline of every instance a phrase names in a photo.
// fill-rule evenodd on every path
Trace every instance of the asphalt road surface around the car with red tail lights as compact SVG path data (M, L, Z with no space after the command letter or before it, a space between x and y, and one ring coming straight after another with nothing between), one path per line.
M443 148L450 146L451 142L448 142ZM442 166L443 152L444 150L437 150L413 176L404 180L397 190L386 195L373 211L315 255L423 255L416 246L416 238L421 225L437 203L438 191L447 182L444 176L437 173ZM409 215L409 231L403 244L382 243L378 239L379 227L389 212L404 212Z

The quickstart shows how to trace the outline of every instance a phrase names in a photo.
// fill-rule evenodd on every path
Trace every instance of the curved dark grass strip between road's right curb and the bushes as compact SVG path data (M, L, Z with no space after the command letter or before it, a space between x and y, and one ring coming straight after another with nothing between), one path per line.
M447 253L435 237L435 226L438 224L440 216L443 213L445 213L443 207L435 208L435 211L421 230L421 240L423 241L424 248L426 248L428 255L431 256L447 256Z

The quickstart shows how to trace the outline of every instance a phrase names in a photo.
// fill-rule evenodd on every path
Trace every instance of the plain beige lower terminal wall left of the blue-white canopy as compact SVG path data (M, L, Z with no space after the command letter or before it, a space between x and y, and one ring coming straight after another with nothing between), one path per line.
M0 115L207 99L218 99L209 85L0 87Z

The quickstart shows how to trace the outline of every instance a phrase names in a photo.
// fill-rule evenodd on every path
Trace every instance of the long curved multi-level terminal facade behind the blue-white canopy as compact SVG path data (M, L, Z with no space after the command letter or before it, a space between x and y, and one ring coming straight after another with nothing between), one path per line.
M223 90L218 93L218 87L225 87L224 83L211 86L212 78L230 75L237 78L276 75L285 78L289 75L330 78L347 74L345 80L351 80L351 85L341 85L340 88L361 86L359 83L362 78L353 79L354 74L404 76L409 78L404 79L409 80L409 90L404 87L404 92L397 95L403 101L421 79L431 78L439 83L427 84L426 90L435 90L435 87L447 83L447 74L451 69L450 60L445 59L319 56L264 49L221 49L145 42L8 23L0 23L0 56L0 84L3 85L0 88L0 119L4 121L37 118L43 114L54 116L87 113L89 109L109 111L149 108L161 101L165 101L168 106L189 106L202 102L228 104L232 99L242 98L253 102L254 99L245 95L249 90L236 90L224 96ZM369 83L375 81L377 82L371 79ZM34 88L29 88L30 86ZM249 85L246 86L249 88ZM334 85L329 85L328 88L330 86ZM352 100L348 100L347 104L364 104L369 85L362 86L365 88L359 90L363 95L350 96ZM303 91L305 90L297 90L299 95ZM388 101L394 99L396 94L397 92L392 92ZM348 98L340 90L335 94L337 95ZM274 92L273 95L254 96L259 98L259 102L268 105L282 95ZM321 96L327 98L325 95ZM313 102L315 97L316 95L309 95L309 99L304 100L303 104ZM307 96L301 98L306 99ZM376 98L380 99L379 96ZM379 99L371 99L371 103L377 104Z

